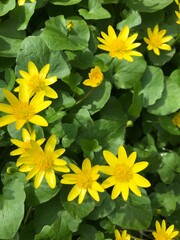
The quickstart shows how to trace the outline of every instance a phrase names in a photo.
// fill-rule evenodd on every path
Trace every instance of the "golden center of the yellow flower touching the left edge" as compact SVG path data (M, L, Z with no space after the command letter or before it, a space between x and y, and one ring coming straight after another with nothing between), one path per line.
M18 106L14 107L14 113L16 119L23 119L27 122L34 116L34 108L28 103L20 103Z

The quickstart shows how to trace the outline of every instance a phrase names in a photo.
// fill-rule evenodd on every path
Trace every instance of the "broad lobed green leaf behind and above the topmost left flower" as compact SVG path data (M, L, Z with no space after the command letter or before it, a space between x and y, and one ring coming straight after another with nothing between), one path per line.
M46 64L50 64L48 76L63 78L69 75L70 70L61 52L50 51L41 37L29 36L22 43L17 56L16 73L19 70L27 71L28 61L33 61L39 71Z

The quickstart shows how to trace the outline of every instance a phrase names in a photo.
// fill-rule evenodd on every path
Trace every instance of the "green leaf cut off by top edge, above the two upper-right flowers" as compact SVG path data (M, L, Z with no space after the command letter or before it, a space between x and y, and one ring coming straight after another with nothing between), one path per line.
M156 12L167 7L169 4L172 3L172 0L144 0L144 1L137 1L137 0L127 0L125 2L128 7L137 10L139 12Z

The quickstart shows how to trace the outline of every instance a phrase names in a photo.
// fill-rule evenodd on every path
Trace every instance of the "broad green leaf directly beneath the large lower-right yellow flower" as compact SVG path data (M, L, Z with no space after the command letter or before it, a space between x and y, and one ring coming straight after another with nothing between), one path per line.
M143 190L143 189L142 189ZM115 201L116 208L109 215L109 220L123 229L145 230L152 220L151 201L145 190L142 196L130 194L125 202L120 197Z

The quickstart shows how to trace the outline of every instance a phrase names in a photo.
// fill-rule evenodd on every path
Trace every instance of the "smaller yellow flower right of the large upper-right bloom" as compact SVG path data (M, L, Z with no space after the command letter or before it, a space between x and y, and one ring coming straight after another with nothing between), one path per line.
M145 37L144 41L148 44L147 49L149 51L153 50L156 55L160 55L159 49L167 51L171 50L171 46L165 43L169 42L172 39L172 36L164 37L164 35L166 34L165 29L159 31L159 26L156 25L153 31L151 30L151 28L148 28L147 34L149 38Z

